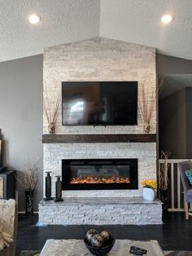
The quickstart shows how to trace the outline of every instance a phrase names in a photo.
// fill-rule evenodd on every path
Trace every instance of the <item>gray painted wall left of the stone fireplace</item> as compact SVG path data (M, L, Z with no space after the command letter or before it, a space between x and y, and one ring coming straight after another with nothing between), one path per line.
M18 171L38 159L42 169L42 55L0 63L0 129L6 144L4 165ZM34 206L42 197L40 179ZM18 184L19 210L24 189Z

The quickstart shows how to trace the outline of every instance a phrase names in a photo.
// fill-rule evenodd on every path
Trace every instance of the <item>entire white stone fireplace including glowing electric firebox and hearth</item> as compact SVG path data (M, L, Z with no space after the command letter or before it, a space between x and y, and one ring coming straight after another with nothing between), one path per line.
M62 82L75 81L137 81L140 103L141 85L145 81L144 89L151 104L150 95L156 86L155 48L107 38L54 46L44 53L43 73L44 95L49 97L50 106L55 105L58 91L62 93ZM45 116L43 133L47 134ZM137 126L63 126L62 108L59 108L55 135L51 138L103 135L103 140L98 143L77 139L71 142L68 139L49 139L44 142L44 177L46 171L51 171L52 195L55 196L54 176L62 175L64 205L41 202L40 223L161 223L160 203L142 200L143 179L156 179L155 140L116 139L112 142L105 138L105 135L131 137L143 134L140 104L137 106ZM156 106L151 115L150 134L156 134ZM90 166L92 173L87 168ZM95 205L98 205L98 212ZM90 209L95 211L95 216L90 217ZM118 210L121 214L117 213ZM108 217L104 218L103 213Z

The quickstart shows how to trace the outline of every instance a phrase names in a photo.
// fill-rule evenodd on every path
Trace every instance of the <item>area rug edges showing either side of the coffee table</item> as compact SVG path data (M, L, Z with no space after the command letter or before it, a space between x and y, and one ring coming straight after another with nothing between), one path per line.
M192 256L192 251L187 250L164 250L165 256ZM34 250L22 250L20 256L39 256L39 252Z

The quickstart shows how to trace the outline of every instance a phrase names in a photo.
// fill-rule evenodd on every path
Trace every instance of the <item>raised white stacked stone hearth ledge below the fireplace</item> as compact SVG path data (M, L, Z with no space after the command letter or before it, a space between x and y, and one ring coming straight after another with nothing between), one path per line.
M162 224L162 203L142 197L64 198L39 203L40 225Z

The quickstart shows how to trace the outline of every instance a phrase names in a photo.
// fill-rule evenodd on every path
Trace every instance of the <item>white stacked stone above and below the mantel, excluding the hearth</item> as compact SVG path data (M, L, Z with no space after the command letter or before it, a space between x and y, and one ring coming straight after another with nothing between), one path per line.
M93 38L46 49L43 64L44 95L55 106L56 95L65 81L137 81L138 102L142 103L142 82L148 104L155 92L155 48ZM43 132L47 133L46 117ZM55 126L56 134L142 134L140 104L137 126L62 126L61 104ZM156 106L151 117L151 133L156 133ZM63 196L141 196L143 179L156 179L156 143L53 143L44 144L44 172L61 174L62 159L138 158L139 190L68 191ZM45 186L45 184L44 184ZM53 179L53 196L55 179Z

